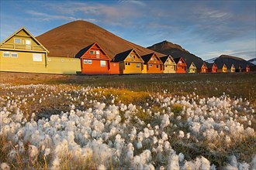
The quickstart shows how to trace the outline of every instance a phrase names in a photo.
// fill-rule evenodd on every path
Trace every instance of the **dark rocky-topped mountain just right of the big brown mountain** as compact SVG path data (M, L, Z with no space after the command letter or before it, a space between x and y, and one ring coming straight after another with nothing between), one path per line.
M201 67L203 63L203 60L201 58L195 56L192 53L189 53L189 51L183 49L182 46L179 46L178 44L174 44L172 42L168 42L166 40L156 43L153 46L149 46L147 47L147 49L152 49L159 53L171 55L173 58L178 58L182 56L182 58L185 60L185 63L187 63L187 66L190 66L190 64L194 62L196 67Z

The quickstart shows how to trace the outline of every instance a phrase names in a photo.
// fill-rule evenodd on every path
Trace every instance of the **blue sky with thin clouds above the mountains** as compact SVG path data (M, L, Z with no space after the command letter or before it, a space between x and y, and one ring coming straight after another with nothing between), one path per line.
M168 40L202 59L256 57L256 0L0 0L0 40L22 26L39 36L85 20L140 46Z

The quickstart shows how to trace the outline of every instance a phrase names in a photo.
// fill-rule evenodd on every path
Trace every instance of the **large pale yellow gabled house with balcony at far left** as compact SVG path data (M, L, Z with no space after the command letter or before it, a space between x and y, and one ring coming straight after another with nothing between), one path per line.
M0 71L47 73L49 51L24 27L0 43Z

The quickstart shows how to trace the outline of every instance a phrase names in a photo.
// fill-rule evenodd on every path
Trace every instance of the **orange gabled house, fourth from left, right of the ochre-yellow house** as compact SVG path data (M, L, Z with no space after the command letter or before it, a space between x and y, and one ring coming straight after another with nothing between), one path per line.
M141 58L144 60L144 70L147 73L163 73L163 63L156 53L150 53Z

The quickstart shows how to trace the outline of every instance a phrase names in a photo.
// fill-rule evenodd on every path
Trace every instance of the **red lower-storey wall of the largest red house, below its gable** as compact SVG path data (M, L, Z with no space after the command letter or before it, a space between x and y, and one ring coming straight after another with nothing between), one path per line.
M91 60L92 63L85 63L85 60ZM101 66L101 61L106 62L106 66ZM108 74L109 60L104 59L81 59L81 73L85 74Z

